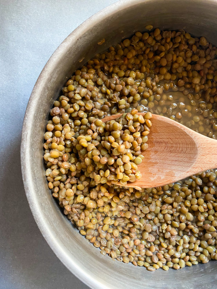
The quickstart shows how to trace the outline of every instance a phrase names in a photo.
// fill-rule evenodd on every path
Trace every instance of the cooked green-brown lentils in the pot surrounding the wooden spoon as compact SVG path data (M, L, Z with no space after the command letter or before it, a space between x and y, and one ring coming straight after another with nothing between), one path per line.
M204 37L185 31L136 32L75 71L54 102L44 143L48 187L102 255L149 271L217 260L216 170L158 188L111 184L106 176L117 177L123 166L123 156L121 162L109 151L112 131L120 131L121 149L124 131L119 121L108 130L101 121L109 114L150 112L216 139L216 55ZM144 131L143 123L139 127ZM146 137L139 144L144 149Z

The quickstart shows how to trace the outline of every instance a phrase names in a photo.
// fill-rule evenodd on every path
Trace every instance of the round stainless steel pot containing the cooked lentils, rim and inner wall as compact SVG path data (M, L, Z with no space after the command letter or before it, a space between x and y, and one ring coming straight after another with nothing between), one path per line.
M57 48L41 72L30 97L22 132L23 181L32 214L44 238L63 264L91 288L214 289L217 262L182 270L148 272L103 257L60 212L47 188L43 134L49 109L73 71L96 53L152 24L185 29L217 45L215 0L123 0L87 19ZM105 39L102 45L97 43ZM80 62L81 61L81 62Z

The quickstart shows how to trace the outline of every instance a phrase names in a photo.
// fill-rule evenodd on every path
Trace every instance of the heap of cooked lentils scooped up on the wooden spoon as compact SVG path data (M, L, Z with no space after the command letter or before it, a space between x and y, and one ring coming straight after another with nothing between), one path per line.
M148 149L146 142L150 132L149 127L152 125L150 121L152 114L146 112L143 117L137 112L138 110L133 109L131 112L124 113L116 121L111 120L106 123L101 119L96 119L91 124L91 129L95 133L102 132L101 142L91 144L86 140L84 142L86 136L78 137L81 138L79 142L84 142L82 145L87 147L87 151L91 151L89 155L87 153L86 158L80 155L80 159L83 159L87 165L91 164L92 159L97 168L102 171L103 176L100 174L94 176L96 185L119 183L127 186L127 181L134 182L136 179L141 179L137 165L141 164L144 159L141 151ZM100 157L101 151L104 152L104 157ZM141 188L138 187L138 189Z

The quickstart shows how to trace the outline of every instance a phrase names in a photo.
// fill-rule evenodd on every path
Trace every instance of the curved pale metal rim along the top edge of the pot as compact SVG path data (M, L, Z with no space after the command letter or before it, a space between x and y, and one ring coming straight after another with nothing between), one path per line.
M113 14L115 14L118 10L124 10L126 5L129 7L133 7L134 5L139 5L140 3L148 3L152 0L119 0L106 8L100 10L95 13L87 20L85 20L82 24L80 24L73 32L63 40L63 42L58 46L58 48L51 55L47 63L45 64L43 70L41 71L36 84L32 90L30 95L30 99L28 101L28 105L25 111L23 127L22 127L22 136L21 136L21 170L23 176L23 184L25 188L25 193L27 196L27 200L32 211L33 217L40 229L43 237L46 242L49 244L49 247L55 253L55 255L60 259L60 261L73 273L76 277L78 277L84 284L91 288L96 289L110 289L108 286L105 286L102 282L94 279L94 277L90 274L90 271L84 271L82 267L78 266L76 262L76 258L69 257L67 252L63 250L63 248L56 241L54 233L52 229L50 229L49 224L45 218L43 218L42 210L40 207L40 203L36 199L36 192L34 192L34 178L32 176L31 170L28 168L31 167L31 163L29 160L30 155L30 131L31 125L33 123L31 119L31 115L37 109L37 103L40 98L40 95L43 91L43 87L47 82L50 72L54 69L55 63L61 57L62 54L66 54L68 48L72 45L76 45L76 40L84 35L90 27L96 25L98 23L98 19L100 18L111 18ZM172 1L172 0L170 0ZM199 3L201 0L192 0L193 3ZM209 3L215 3L217 5L217 0L209 0ZM105 16L106 15L106 16Z

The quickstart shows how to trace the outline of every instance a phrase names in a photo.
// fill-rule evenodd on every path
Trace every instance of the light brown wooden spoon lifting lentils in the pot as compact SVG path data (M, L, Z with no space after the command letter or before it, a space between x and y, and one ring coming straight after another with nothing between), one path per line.
M145 113L138 113L144 115ZM122 114L103 118L103 122ZM217 167L217 140L208 138L165 116L152 114L148 149L138 165L140 180L128 187L153 188Z

